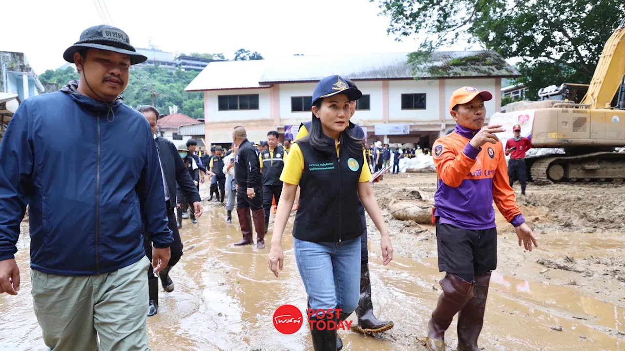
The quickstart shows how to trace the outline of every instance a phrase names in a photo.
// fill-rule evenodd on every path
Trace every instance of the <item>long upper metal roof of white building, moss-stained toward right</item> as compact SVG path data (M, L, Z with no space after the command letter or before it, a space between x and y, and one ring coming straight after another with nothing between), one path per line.
M268 61L260 82L318 81L332 74L349 79L520 76L494 51L434 52L431 61L414 67L414 72L408 59L409 52L279 57Z

